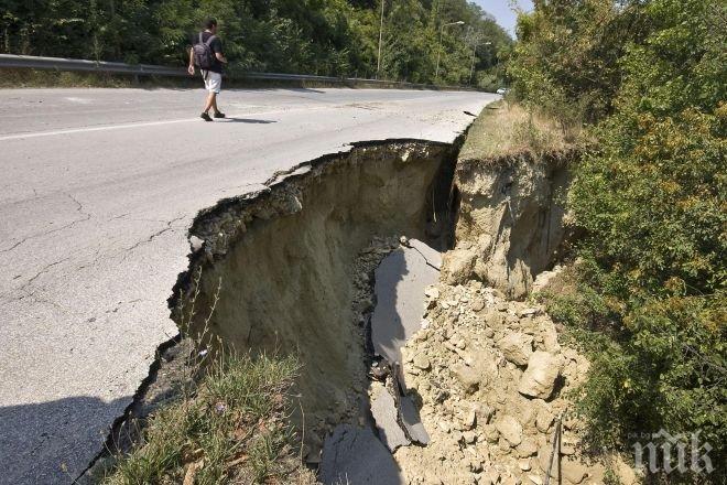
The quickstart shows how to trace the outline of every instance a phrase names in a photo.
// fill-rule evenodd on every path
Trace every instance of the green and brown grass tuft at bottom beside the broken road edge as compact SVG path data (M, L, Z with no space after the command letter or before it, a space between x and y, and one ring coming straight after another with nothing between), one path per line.
M289 424L293 357L225 356L195 389L151 417L102 483L314 483Z

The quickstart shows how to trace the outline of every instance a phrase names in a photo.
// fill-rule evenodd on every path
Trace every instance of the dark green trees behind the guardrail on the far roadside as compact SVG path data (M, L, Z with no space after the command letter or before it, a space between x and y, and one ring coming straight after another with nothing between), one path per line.
M466 0L384 0L380 78L497 85L511 39ZM205 17L235 67L377 75L381 0L3 0L0 53L183 65ZM491 44L486 44L486 43ZM473 53L475 74L471 76Z

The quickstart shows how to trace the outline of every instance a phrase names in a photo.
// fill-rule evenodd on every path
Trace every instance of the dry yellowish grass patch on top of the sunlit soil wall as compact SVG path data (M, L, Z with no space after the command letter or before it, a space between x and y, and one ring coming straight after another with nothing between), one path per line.
M523 152L564 151L582 136L578 127L525 110L518 104L497 101L482 110L460 152L463 160L486 160Z

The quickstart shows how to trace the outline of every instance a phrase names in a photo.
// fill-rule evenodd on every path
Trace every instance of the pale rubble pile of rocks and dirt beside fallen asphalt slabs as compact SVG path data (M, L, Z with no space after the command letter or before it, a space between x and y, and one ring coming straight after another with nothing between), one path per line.
M431 441L397 449L405 483L542 485L552 454L551 483L603 483L605 466L583 453L582 424L564 398L588 362L558 344L543 310L478 281L425 293L402 366Z

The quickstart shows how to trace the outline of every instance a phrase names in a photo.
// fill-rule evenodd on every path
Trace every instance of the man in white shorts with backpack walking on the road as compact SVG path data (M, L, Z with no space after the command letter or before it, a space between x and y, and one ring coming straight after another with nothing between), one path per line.
M223 42L217 36L217 21L207 19L203 24L204 31L197 34L192 41L193 47L189 50L189 75L194 76L195 65L199 67L202 78L205 80L207 89L207 100L205 108L199 117L205 121L211 121L209 110L211 109L215 118L225 118L225 114L217 108L217 95L223 87L223 64L227 60L223 54Z

